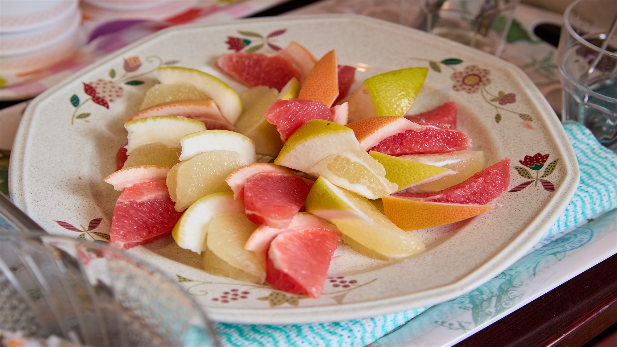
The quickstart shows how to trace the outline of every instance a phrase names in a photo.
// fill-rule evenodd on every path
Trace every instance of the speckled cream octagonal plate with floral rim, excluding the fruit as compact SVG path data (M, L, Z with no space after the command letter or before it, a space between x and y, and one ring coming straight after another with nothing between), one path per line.
M130 250L175 275L212 319L255 324L324 322L439 303L476 288L523 256L572 198L579 178L573 149L557 116L520 69L475 49L381 20L320 15L174 27L67 78L32 101L23 115L11 155L12 200L50 233L105 241L118 192L102 178L115 170L115 153L126 141L123 122L137 111L145 91L155 83L155 67L167 62L201 69L242 91L246 88L215 67L217 57L231 49L271 52L270 48L284 47L291 40L317 57L336 49L339 64L358 68L355 86L387 70L431 66L410 112L454 100L460 106L459 127L471 136L474 149L486 153L487 165L503 157L518 165L525 156L550 154L539 171L547 175L538 185L504 193L496 201L503 205L498 209L415 232L428 245L420 256L377 261L341 244L335 254L340 257L333 259L331 278L319 299L297 298L269 286L206 274L199 269L201 257L178 248L171 237ZM123 67L131 70L138 63L138 69L125 74ZM121 86L120 97L97 99L96 104L89 100L83 83L98 79ZM129 81L144 83L127 85ZM491 101L503 99L500 94L515 96L502 104ZM549 162L557 159L557 167L547 170ZM532 177L535 181L536 172ZM527 181L511 170L511 187L520 188ZM96 230L85 227L99 218L102 223Z

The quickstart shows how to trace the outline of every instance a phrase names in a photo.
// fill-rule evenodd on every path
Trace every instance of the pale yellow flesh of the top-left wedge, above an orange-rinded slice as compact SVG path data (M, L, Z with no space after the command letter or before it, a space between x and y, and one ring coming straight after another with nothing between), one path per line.
M144 100L141 102L139 109L144 110L166 102L176 102L189 99L210 99L210 96L204 93L204 91L201 91L186 83L157 83L146 91L146 96L144 96Z

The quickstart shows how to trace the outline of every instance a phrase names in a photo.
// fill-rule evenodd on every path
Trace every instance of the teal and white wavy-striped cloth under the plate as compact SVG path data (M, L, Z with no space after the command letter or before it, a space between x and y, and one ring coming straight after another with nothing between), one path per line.
M568 122L563 126L576 153L581 180L572 201L545 237L617 208L617 155L598 143L579 123ZM334 323L215 323L214 328L223 346L366 346L426 309L428 307Z

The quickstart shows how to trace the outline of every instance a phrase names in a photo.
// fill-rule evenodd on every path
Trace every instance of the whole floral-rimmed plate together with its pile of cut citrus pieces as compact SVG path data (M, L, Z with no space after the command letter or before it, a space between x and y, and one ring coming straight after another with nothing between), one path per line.
M125 249L213 319L261 324L462 295L578 184L523 72L355 15L157 33L31 102L11 160L13 201L48 232Z

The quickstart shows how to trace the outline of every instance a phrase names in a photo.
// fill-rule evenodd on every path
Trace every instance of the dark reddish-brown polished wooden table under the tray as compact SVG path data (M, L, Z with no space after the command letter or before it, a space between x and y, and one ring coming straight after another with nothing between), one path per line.
M320 0L292 0L251 17L280 15ZM2 101L0 109L21 101ZM463 346L583 346L617 333L617 254L458 343ZM590 346L600 346L589 343Z

